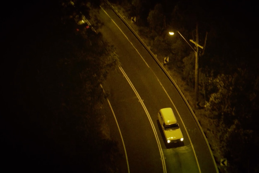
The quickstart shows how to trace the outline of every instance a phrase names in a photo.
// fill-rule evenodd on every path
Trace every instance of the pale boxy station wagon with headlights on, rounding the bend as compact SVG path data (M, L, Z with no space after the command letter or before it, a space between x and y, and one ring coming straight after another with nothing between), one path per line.
M158 112L158 120L167 143L183 142L184 137L172 108L163 108Z

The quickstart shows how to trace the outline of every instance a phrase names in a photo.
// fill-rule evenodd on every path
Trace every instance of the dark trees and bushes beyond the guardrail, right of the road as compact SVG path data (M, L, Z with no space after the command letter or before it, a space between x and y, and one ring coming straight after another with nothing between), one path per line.
M221 172L259 172L259 60L256 8L250 1L111 0L136 16L137 32L167 67L194 88L195 55L189 42L199 30L200 118L214 122L221 153ZM174 31L174 36L168 32ZM207 33L207 38L206 38ZM206 39L206 44L205 44ZM195 49L193 43L189 42ZM193 92L193 89L190 90ZM194 105L195 106L195 105ZM193 107L198 114L198 110ZM205 111L204 111L205 112ZM207 129L204 129L204 131ZM210 130L211 131L211 130ZM220 166L227 158L227 167Z

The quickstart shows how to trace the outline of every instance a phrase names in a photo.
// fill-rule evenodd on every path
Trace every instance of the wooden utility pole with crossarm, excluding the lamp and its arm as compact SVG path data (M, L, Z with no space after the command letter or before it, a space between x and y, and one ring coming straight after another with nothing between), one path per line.
M196 52L195 52L195 105L198 103L198 94L199 94L199 47L203 49L203 46L199 45L199 34L198 34L198 23L196 24L196 42L190 40L190 42L196 45Z

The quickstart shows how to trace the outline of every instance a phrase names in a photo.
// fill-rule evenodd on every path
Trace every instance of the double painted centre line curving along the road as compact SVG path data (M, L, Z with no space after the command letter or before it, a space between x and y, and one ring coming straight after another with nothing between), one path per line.
M121 73L123 74L123 76L125 76L126 80L129 82L131 88L132 88L133 91L135 92L135 94L136 94L136 96L138 97L138 99L139 99L139 101L140 101L140 103L141 103L143 109L145 110L146 115L148 116L148 120L149 120L149 122L150 122L150 124L151 124L151 127L152 127L152 129L153 129L154 135L155 135L155 137L156 137L156 141L157 141L157 145L158 145L158 149L159 149L160 157L161 157L161 161L162 161L163 172L166 173L166 162L165 162L165 158L164 158L164 153L163 153L163 150L162 150L162 147L161 147L161 144L160 144L160 141L159 141L159 138L158 138L157 131L156 131L156 129L155 129L154 123L153 123L153 121L152 121L152 119L151 119L151 116L150 116L150 114L148 113L148 110L147 110L147 108L146 108L144 102L142 101L142 99L141 99L141 97L140 97L138 91L136 90L136 88L135 88L135 87L133 86L133 84L131 83L129 77L126 75L126 73L124 72L124 70L122 69L121 66L119 66L119 68L120 68L120 71L121 71Z

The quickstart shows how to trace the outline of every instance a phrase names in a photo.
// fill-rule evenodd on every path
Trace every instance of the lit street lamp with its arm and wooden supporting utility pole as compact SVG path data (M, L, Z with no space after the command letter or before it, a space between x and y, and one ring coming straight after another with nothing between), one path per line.
M181 33L179 31L177 31L180 36L187 42L187 40L181 35ZM169 32L170 35L174 35L174 32ZM199 52L199 47L203 49L203 46L199 45L199 36L198 36L198 25L196 25L196 42L194 42L193 40L190 40L190 42L194 43L196 45L196 51L193 49L193 47L188 43L188 45L193 49L193 51L195 52L195 101L196 103L198 103L198 82L199 82L199 64L198 64L198 52Z

